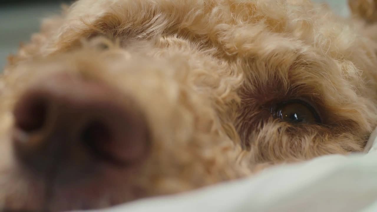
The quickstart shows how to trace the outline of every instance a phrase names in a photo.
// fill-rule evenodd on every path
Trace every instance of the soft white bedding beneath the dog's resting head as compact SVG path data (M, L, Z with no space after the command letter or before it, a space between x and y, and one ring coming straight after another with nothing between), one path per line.
M377 130L366 154L328 155L185 194L105 212L377 212Z

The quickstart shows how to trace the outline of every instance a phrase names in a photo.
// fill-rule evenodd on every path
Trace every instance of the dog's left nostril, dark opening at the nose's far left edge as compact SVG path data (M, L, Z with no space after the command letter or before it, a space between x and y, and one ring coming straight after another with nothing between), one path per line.
M48 102L38 94L25 94L14 109L15 125L29 133L43 128L48 110Z

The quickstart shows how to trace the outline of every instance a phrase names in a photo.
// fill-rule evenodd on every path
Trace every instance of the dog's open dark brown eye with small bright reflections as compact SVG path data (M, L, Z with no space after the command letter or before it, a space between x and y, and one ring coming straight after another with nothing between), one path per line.
M290 100L277 104L271 108L275 118L290 123L320 124L321 119L316 110L301 100Z

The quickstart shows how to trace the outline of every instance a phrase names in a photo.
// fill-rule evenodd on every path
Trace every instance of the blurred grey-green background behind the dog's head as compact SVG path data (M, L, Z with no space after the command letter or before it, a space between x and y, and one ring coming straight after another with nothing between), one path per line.
M39 30L40 20L59 12L62 3L73 0L0 0L0 70L6 57L16 53L19 43L28 42ZM181 1L181 0L177 0ZM327 2L340 15L349 14L347 0L312 0Z

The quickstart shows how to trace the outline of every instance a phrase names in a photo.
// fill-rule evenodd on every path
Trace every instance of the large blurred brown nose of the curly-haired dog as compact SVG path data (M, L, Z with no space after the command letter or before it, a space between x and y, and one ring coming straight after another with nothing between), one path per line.
M21 95L14 118L15 155L38 171L98 160L129 166L147 153L142 113L105 83L46 78Z

